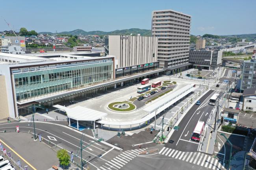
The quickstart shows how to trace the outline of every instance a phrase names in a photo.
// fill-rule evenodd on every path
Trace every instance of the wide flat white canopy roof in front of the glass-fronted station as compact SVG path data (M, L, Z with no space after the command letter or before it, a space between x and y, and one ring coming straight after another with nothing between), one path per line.
M57 104L57 105L54 105L53 107L65 110L67 112L67 116L69 118L78 120L78 121L96 121L96 120L102 119L102 117L108 115L107 113L93 110L90 108L85 108L82 106L76 106L74 108L67 108L65 106L61 106L61 105Z

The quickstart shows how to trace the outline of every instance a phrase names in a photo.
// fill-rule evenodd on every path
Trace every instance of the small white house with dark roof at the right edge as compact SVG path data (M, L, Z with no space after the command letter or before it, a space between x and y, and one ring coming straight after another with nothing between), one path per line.
M256 112L256 88L247 88L243 91L242 109Z

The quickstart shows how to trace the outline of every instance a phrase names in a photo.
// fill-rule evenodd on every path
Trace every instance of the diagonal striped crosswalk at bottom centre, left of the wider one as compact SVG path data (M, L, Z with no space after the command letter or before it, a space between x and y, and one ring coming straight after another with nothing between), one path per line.
M143 152L145 150L145 148L126 150L125 152L122 152L115 158L106 162L104 165L100 166L100 170L118 170L126 165L128 162L132 161L132 159L134 159L138 155L138 152Z

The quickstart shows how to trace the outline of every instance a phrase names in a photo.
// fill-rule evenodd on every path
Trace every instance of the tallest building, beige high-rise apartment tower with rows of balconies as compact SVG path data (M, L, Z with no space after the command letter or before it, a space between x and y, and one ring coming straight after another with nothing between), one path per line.
M152 35L158 37L160 67L171 72L188 68L190 29L190 15L173 10L152 12Z

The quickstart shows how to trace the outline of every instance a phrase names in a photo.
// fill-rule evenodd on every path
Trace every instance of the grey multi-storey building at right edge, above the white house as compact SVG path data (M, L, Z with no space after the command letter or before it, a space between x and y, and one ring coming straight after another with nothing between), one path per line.
M252 60L245 60L243 62L243 71L241 75L240 90L247 88L256 88L256 60L255 53L252 55Z

